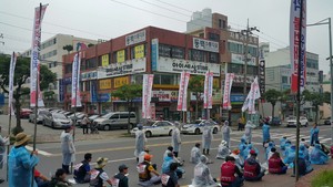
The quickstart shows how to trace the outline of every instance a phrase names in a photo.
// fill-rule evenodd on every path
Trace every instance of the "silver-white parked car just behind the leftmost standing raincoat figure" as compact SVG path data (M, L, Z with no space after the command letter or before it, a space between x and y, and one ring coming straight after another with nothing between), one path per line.
M63 128L64 126L72 125L72 121L63 114L49 113L43 118L43 125L52 128Z

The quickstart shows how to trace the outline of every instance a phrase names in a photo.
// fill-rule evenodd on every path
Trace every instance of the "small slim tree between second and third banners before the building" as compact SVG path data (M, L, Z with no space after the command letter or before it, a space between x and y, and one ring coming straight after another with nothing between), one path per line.
M189 91L193 92L195 95L195 120L198 118L198 107L199 107L199 101L202 102L202 94L204 91L204 76L191 76L189 81Z

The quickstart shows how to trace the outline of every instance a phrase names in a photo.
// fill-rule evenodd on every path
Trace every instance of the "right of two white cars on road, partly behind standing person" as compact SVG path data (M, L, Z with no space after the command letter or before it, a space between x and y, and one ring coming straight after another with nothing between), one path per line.
M198 120L194 123L185 124L181 127L182 134L201 134L204 126L213 128L213 134L220 131L220 125L212 120Z

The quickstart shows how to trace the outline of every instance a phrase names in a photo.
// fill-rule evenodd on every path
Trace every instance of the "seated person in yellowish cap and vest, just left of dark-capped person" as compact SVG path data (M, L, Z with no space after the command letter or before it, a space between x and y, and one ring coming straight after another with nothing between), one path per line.
M91 170L90 175L90 187L103 187L104 181L107 181L109 185L112 185L112 180L103 169L108 164L108 160L109 159L104 157L99 157L97 159L97 166Z

